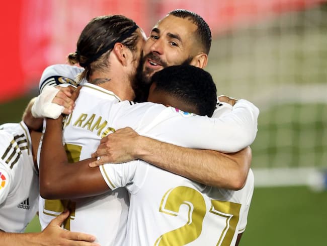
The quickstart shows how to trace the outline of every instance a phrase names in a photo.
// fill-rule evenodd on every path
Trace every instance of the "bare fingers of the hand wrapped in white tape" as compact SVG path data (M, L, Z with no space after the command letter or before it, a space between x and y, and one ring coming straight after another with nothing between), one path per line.
M77 98L77 96L72 98L75 88L72 86L67 86L67 87L56 86L55 88L57 88L59 91L53 98L52 102L64 107L62 113L65 114L71 113L75 106L75 100Z

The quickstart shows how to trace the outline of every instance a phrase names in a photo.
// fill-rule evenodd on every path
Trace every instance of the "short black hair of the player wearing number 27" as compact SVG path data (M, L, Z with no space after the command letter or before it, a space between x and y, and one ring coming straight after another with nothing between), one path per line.
M155 83L155 91L169 93L194 106L199 115L210 117L216 108L216 85L211 75L203 69L191 65L170 66L156 72L151 83Z

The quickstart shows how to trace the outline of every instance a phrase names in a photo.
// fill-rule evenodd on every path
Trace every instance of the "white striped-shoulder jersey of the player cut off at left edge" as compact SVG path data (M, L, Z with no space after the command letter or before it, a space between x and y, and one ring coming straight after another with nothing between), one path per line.
M36 215L39 198L31 137L24 124L0 126L0 229L23 232Z

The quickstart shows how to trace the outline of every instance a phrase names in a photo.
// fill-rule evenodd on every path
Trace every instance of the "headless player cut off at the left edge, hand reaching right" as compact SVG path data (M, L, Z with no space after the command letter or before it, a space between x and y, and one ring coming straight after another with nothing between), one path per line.
M1 245L97 245L91 243L94 241L91 235L64 231L60 227L68 211L53 219L42 232L21 233L38 209L36 151L41 134L31 128L39 128L40 124L40 119L31 121L24 115L20 123L0 126Z

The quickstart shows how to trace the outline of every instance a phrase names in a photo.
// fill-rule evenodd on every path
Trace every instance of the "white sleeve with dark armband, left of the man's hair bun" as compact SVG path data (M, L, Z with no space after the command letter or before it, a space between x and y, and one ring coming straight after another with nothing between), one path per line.
M78 83L75 81L76 76L83 71L83 68L67 64L51 65L42 73L39 83L39 91L42 92L43 88L47 85L57 86L68 84L77 86ZM80 84L83 84L84 82L85 81L82 81Z

